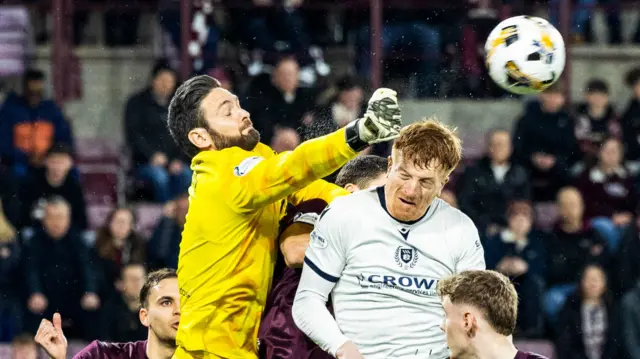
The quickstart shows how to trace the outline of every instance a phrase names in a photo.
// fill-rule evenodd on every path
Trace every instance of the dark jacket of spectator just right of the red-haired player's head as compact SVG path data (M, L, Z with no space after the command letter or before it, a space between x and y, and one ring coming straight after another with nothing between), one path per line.
M456 188L460 210L473 220L481 233L490 224L506 225L505 215L511 201L531 199L528 174L522 166L511 164L503 182L498 183L488 158L467 167Z

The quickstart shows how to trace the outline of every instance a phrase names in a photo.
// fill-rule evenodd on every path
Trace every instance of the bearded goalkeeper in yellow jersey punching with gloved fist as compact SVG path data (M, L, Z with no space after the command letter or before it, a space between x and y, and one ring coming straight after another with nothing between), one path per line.
M361 119L275 154L259 143L238 98L214 78L197 76L178 88L168 125L193 158L194 171L178 260L181 319L174 358L257 358L287 203L329 203L346 193L318 179L366 146L398 136L396 93L378 89Z

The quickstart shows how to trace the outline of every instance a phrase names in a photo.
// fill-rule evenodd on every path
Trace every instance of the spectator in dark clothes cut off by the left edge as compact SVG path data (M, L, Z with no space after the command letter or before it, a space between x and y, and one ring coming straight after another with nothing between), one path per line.
M21 272L16 230L0 209L0 343L11 341L22 330Z

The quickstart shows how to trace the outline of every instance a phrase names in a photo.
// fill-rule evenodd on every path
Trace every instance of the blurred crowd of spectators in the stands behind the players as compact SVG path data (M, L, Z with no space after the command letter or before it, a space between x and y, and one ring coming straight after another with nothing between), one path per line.
M480 8L485 4L477 3ZM477 19L474 14L479 13L476 7L469 17L443 13L432 20ZM330 86L316 84L314 77L329 68L323 67L328 65L322 51L296 29L296 12L284 20L278 17L283 14L270 14L275 20L269 21L260 14L251 15L250 33L238 40L253 41L247 46L247 69L256 76L241 83L215 62L202 72L240 95L262 141L277 152L287 151L355 120L365 106L366 82L345 76ZM439 58L440 53L429 51L446 54L447 45L456 43L451 40L455 35L445 36L442 27L416 24L406 15L388 15L400 16L402 26L385 26L385 50L402 45L398 39L407 40L406 33L420 40L412 57ZM169 32L176 26L171 16L175 14L163 17ZM365 24L367 16L359 13L361 21L352 25ZM610 20L615 27L615 17ZM273 28L268 24L273 22L289 26L279 33L296 36L285 39L292 45L286 55L268 58L265 54L281 52L271 48L276 41L269 37ZM575 25L576 37L586 36L581 29ZM135 38L131 31L123 34ZM360 75L367 75L370 66L368 31L362 25L358 37ZM207 46L215 47L217 36L212 34ZM612 36L612 42L619 42L615 32ZM107 42L126 46L130 39ZM462 73L469 82L460 91L503 96L495 88L476 87L476 80L484 79L475 72L481 62L475 55L467 60L475 65L467 61ZM273 70L259 75L265 62ZM433 63L418 61L423 67L414 72L423 78L410 95L441 94L440 69L429 67ZM147 271L177 267L191 181L189 159L166 127L168 103L178 84L170 59L159 60L150 78L148 87L131 95L122 109L133 199L163 206L148 238L136 231L136 215L129 207L114 208L100 228L90 228L74 164L74 135L61 109L44 96L41 71L25 71L23 90L3 100L0 342L13 341L16 352L33 345L30 338L41 318L55 311L62 313L70 340L146 338L138 319L138 295ZM588 82L577 106L565 102L559 85L526 101L515 127L487 133L485 156L466 159L442 193L478 227L487 268L517 284L517 337L553 340L558 358L640 358L640 69L631 71L626 82L632 100L620 113L611 104L607 82L598 78ZM389 145L374 146L368 153L387 156ZM545 221L549 211L557 215ZM27 356L16 358L22 357Z

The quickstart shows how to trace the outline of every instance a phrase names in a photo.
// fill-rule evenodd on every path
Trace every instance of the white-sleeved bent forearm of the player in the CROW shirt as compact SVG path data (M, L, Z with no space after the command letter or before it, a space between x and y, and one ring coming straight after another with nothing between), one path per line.
M335 355L338 348L349 340L327 309L327 299L333 286L334 283L305 267L292 308L298 328L331 355Z

